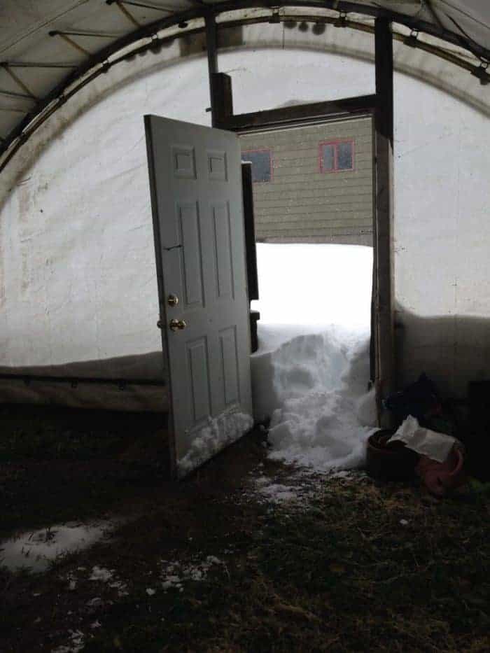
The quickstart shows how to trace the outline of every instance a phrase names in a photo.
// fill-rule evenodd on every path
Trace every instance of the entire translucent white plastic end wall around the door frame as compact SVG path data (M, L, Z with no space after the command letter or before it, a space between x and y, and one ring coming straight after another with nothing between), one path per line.
M279 27L255 31L255 42L270 41ZM370 63L301 50L302 37L290 34L295 50L220 55L220 69L237 89L237 111L339 97L351 94L348 88L369 92ZM180 53L176 42L164 59ZM202 57L178 66L161 57L119 64L87 85L3 172L1 365L91 361L92 369L98 361L97 374L112 376L100 361L111 359L116 373L115 361L130 356L132 377L163 373L161 358L139 365L141 355L160 357L142 115L209 124L209 90ZM467 101L395 76L400 379L425 370L443 391L461 394L489 363L489 104L469 73L439 59L437 65L448 88L451 71L464 80Z

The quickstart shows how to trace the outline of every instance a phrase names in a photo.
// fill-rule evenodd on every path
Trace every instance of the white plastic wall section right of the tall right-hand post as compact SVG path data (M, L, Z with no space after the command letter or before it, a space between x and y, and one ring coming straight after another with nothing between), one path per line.
M490 376L490 120L395 79L395 292L404 381Z

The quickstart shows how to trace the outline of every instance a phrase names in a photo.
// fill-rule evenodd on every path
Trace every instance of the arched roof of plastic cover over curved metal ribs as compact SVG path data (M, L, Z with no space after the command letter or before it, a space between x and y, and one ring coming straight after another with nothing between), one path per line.
M137 52L158 54L177 37L189 43L204 35L209 15L216 17L218 47L246 45L237 29L249 30L248 45L278 45L277 34L263 29L273 25L281 29L283 46L318 48L320 41L335 42L337 51L361 57L359 39L372 34L375 17L386 17L395 41L410 46L407 52L416 51L408 70L425 69L428 80L443 86L438 76L447 78L447 65L442 72L434 62L454 64L466 80L473 76L472 89L452 80L456 94L474 94L473 104L486 104L482 89L474 90L490 80L486 0L5 0L0 8L0 169L90 80ZM195 44L201 52L206 49L204 39ZM367 58L368 50L364 45Z

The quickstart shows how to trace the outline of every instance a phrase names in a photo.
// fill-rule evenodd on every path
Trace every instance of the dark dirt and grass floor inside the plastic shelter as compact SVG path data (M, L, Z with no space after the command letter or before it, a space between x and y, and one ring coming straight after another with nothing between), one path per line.
M488 486L300 473L257 430L170 482L160 416L0 409L0 538L109 520L0 571L0 650L490 650ZM0 552L1 556L1 552Z

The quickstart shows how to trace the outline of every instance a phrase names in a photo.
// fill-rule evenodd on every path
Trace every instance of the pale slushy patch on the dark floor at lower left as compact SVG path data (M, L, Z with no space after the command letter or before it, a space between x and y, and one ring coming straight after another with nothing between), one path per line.
M59 524L22 533L0 544L0 566L10 571L28 567L33 572L43 572L58 556L90 547L113 526L109 521Z

